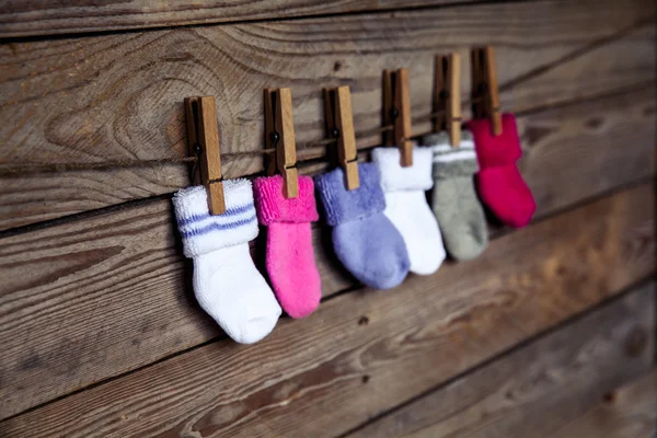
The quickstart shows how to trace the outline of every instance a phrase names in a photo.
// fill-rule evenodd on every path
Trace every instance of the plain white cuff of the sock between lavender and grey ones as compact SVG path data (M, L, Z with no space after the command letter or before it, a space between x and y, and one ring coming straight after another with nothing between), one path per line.
M434 151L431 148L413 148L413 165L402 168L399 148L377 148L372 161L381 172L383 192L428 191L434 186L431 177Z

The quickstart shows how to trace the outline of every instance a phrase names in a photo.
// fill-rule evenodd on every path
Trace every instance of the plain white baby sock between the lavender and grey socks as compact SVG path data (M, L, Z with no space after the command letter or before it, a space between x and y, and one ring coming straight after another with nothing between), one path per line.
M411 272L435 273L445 260L438 222L425 197L434 185L431 148L413 148L413 165L402 168L399 148L377 148L372 160L381 171L385 216L394 223L408 251Z

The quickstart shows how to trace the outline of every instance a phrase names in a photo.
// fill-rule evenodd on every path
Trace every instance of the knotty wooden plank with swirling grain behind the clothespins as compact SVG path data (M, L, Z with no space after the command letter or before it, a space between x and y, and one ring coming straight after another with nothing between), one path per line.
M349 84L355 127L370 131L383 68L410 69L413 114L426 115L434 55L483 43L497 48L508 111L615 94L655 81L654 14L650 1L544 0L4 44L0 165L184 157L183 99L207 94L219 102L224 175L254 174L261 159L230 154L263 148L263 88L291 87L300 145L323 138L322 87ZM299 151L308 155L318 148ZM0 229L186 184L181 164L3 176Z

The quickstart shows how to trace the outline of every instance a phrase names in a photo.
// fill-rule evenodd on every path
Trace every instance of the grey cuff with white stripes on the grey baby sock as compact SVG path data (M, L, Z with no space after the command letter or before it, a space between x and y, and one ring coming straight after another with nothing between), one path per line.
M434 150L434 178L472 176L479 172L472 132L463 130L458 148L452 148L446 131L425 136L420 140Z

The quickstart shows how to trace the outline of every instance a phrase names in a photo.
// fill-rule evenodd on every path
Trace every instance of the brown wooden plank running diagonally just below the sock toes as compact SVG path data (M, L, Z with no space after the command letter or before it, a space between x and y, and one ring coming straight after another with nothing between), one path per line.
M0 431L339 435L654 274L654 207L652 184L621 192L496 239L476 261L411 276L390 291L338 295L307 320L281 321L257 348L217 341L10 418ZM158 281L157 272L150 277ZM151 299L131 297L122 312ZM60 306L88 306L88 318L97 318L94 299L61 297ZM176 335L169 326L154 331ZM21 403L3 399L4 410Z

